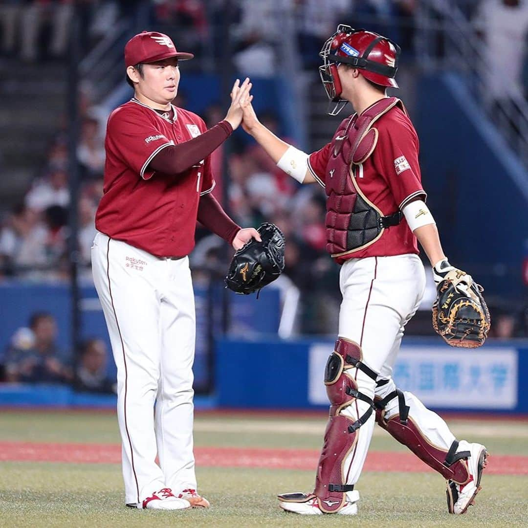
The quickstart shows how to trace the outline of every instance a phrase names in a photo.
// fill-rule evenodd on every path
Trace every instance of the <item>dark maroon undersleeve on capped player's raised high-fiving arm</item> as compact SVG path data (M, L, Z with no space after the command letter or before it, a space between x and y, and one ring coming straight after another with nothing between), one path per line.
M200 136L160 150L148 164L148 170L180 174L209 156L233 132L227 121L220 121Z

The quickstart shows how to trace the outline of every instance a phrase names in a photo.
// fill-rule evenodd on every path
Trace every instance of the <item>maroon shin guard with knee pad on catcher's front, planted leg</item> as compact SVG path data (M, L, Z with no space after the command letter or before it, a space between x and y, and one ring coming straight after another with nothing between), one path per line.
M336 513L345 505L347 493L353 491L353 485L345 484L343 464L357 441L359 429L371 416L373 401L358 392L354 380L356 369L365 369L375 380L376 374L361 362L361 348L352 341L338 338L335 351L328 358L325 369L325 385L330 400L330 417L326 426L323 450L319 458L315 480L314 496L319 508L325 513ZM341 412L355 400L369 404L367 411L355 421L343 416Z

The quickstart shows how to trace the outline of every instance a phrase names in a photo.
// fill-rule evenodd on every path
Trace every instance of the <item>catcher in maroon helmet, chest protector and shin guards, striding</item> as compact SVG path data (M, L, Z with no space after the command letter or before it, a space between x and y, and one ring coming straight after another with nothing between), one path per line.
M339 335L325 370L331 403L313 493L279 495L299 514L357 513L354 486L374 422L447 480L450 513L464 513L480 489L487 452L458 441L438 414L398 389L392 370L403 329L420 305L425 271L417 239L437 283L448 272L467 288L472 278L450 266L420 182L418 137L398 88L399 47L376 33L340 25L324 44L319 68L336 115L347 102L334 138L310 155L273 135L250 102L243 128L301 183L316 182L327 195L327 250L341 265Z

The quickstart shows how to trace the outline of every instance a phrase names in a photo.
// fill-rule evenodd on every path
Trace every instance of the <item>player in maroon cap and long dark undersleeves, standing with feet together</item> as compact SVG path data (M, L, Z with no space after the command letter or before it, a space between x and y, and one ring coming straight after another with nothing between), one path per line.
M196 492L192 437L195 310L187 256L196 220L235 249L260 240L211 194L210 155L239 126L251 83L234 83L227 116L206 130L200 117L171 104L178 62L192 57L152 31L126 44L134 98L108 119L92 247L117 365L126 504L157 510L209 506Z

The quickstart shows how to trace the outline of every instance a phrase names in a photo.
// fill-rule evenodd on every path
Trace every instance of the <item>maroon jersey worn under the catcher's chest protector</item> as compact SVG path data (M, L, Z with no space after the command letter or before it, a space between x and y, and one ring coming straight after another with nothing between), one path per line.
M418 164L418 135L410 119L394 107L375 123L379 137L372 155L355 168L356 183L384 215L403 209L413 198L426 199ZM324 187L330 143L310 154L308 167ZM418 243L406 220L384 230L371 246L338 257L337 262L363 257L418 253Z

